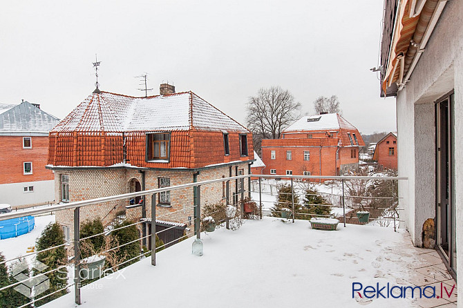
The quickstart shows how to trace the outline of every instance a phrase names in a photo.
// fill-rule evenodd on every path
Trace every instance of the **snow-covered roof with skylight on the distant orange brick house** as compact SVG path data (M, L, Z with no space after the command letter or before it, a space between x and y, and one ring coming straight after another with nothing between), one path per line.
M339 128L357 129L337 113L325 115L305 115L286 128L283 133L291 131L337 130Z

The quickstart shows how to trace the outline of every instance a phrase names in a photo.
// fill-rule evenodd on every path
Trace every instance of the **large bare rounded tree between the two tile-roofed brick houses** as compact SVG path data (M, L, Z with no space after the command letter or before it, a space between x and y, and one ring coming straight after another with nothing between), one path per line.
M299 115L300 108L301 104L294 102L288 90L279 86L261 88L247 102L247 126L261 139L278 139L281 131Z

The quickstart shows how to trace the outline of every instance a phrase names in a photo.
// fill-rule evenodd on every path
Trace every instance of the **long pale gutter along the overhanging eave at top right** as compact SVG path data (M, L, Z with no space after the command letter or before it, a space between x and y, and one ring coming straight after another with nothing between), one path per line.
M422 1L422 2L425 2L425 1ZM428 40L429 38L431 37L431 34L433 33L433 30L435 28L435 25L437 24L437 21L439 20L440 18L440 15L442 14L442 10L444 10L444 7L447 3L447 0L434 0L434 1L426 1L426 2L437 2L437 6L433 12L433 15L431 16L431 19L429 20L428 22L428 26L426 28L426 30L424 31L424 35L422 37L418 37L417 39L415 39L415 37L413 37L414 41L416 42L415 44L417 44L417 50L416 50L416 54L415 54L415 57L413 58L413 61L410 65L410 68L408 68L408 72L404 78L404 80L399 84L399 88L398 88L398 91L402 90L404 88L404 86L406 86L406 83L408 81L410 81L410 76L412 75L413 73L413 70L415 69L415 66L417 65L418 61L419 61L419 57L421 57L422 53L424 52L424 48L426 47L426 44L428 44ZM423 7L424 7L424 3L423 3ZM420 11L421 13L422 11ZM421 17L420 17L421 19ZM417 42L418 39L421 39L421 41Z

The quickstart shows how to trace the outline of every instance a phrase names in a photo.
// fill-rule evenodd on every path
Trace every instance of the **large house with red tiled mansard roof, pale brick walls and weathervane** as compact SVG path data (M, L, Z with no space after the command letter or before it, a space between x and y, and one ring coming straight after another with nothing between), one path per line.
M55 171L55 196L73 202L165 186L249 174L252 133L195 93L175 93L169 84L160 95L130 97L96 89L50 131L48 169ZM248 183L244 188L248 191ZM238 182L230 184L236 202ZM193 189L156 196L157 230L176 226L160 238L178 238L192 228ZM201 186L202 205L226 202L225 183ZM151 229L151 196L117 200L81 209L82 220L100 217L105 225L125 212ZM183 210L183 211L178 211ZM73 239L73 211L56 216L65 237ZM188 231L188 230L187 230Z

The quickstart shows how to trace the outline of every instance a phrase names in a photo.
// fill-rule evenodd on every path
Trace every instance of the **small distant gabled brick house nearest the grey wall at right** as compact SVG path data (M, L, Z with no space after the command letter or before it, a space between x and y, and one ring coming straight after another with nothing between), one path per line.
M378 162L378 169L397 170L397 133L388 133L376 145L373 160Z

